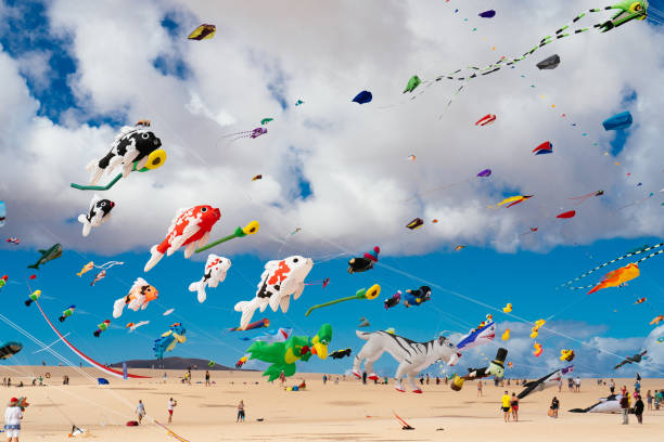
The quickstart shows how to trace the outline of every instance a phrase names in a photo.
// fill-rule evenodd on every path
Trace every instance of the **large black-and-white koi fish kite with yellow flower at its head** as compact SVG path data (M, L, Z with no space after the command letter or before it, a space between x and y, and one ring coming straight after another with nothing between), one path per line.
M127 178L135 170L146 172L162 167L166 162L166 151L159 148L162 141L149 128L149 120L140 120L135 127L123 127L108 153L86 167L90 171L90 185L72 183L72 187L80 191L107 191L120 178ZM111 174L118 166L123 169L122 173L106 185L95 185L104 172Z

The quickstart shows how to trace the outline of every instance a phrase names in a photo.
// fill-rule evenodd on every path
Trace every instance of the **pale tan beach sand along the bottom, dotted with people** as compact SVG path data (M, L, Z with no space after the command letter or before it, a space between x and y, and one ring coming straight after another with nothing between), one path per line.
M184 372L137 369L130 373L154 376L153 379L123 380L108 378L93 368L88 375L69 367L8 366L0 367L2 377L12 384L29 387L2 388L0 401L27 396L30 406L25 413L21 441L63 441L71 421L88 430L94 441L175 441L152 419L167 421L167 401L178 401L173 424L168 427L191 442L206 441L656 441L664 430L664 408L646 412L644 424L622 426L617 414L572 414L566 411L587 407L605 396L609 388L595 380L583 379L582 392L562 392L553 387L521 401L520 421L503 422L499 401L505 390L511 394L521 388L494 387L487 381L484 396L477 398L476 382L467 382L455 392L449 386L436 386L432 379L423 394L399 393L392 385L362 385L346 376L340 382L322 384L322 375L296 374L286 385L306 379L305 391L284 391L267 384L256 372L210 372L216 382L205 387L204 370L193 372L192 385L181 384ZM31 387L33 376L50 373L44 387ZM71 378L62 386L62 377ZM98 386L92 378L106 377L110 386ZM257 382L257 384L256 384ZM616 379L616 385L631 388L634 379ZM642 392L664 388L663 379L643 379ZM551 398L558 395L561 413L558 419L547 416ZM136 405L141 399L148 412L144 425L127 427L135 420ZM244 401L246 421L237 424L237 405ZM646 401L644 401L646 402ZM396 412L414 430L401 430ZM258 421L257 419L264 419ZM71 420L69 420L71 419Z

